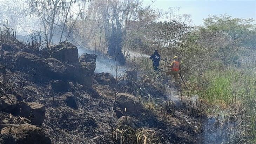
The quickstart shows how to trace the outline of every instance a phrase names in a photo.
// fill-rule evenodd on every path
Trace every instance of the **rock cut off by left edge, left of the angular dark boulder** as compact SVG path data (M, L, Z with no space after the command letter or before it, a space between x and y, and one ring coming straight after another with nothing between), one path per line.
M6 95L2 95L0 97L0 111L12 111L17 104L17 99L13 94L8 94L9 97Z

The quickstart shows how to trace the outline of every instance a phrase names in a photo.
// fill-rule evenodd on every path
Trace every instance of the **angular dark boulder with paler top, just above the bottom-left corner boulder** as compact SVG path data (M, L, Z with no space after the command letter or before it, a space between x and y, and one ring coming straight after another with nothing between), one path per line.
M36 102L19 102L12 114L25 117L40 127L45 119L45 106Z

